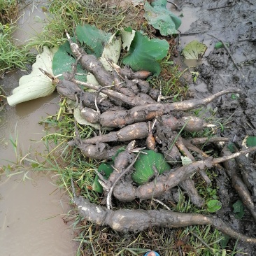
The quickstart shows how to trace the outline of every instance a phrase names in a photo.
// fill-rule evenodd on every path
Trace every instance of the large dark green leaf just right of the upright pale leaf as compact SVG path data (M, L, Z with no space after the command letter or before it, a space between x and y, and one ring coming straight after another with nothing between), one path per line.
M128 56L122 63L131 66L134 71L151 71L158 76L161 69L157 60L164 58L169 50L169 43L158 38L151 39L136 31L131 42Z

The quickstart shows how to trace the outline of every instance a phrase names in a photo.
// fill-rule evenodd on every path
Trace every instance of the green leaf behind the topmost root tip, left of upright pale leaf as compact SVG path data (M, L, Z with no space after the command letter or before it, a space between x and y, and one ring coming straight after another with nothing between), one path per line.
M108 43L109 38L111 38L111 33L105 33L90 24L78 25L76 27L76 35L80 43L85 43L89 46L98 58L101 57L104 46Z

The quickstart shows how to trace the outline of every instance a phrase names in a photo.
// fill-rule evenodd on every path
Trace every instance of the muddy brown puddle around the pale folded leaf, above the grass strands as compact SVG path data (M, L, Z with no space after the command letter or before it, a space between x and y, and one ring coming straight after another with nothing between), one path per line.
M15 71L6 74L3 80L0 79L0 85L7 95L11 93L14 87L17 87L19 78L24 74L27 74L27 72ZM44 127L39 125L38 122L48 114L54 115L56 113L58 101L59 98L56 93L18 104L15 107L6 105L3 111L0 112L1 165L6 165L9 161L15 162L14 148L10 143L10 136L15 138L15 134L17 134L20 155L29 152L32 141L34 142L34 152L44 149L43 143L40 143L41 138L45 135Z

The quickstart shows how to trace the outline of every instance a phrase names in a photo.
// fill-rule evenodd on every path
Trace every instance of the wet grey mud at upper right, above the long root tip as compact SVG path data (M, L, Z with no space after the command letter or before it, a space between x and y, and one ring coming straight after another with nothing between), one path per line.
M206 97L209 93L216 93L230 86L241 89L240 97L222 97L217 104L212 104L212 108L218 106L218 117L222 118L222 122L229 120L229 128L222 135L241 145L246 135L256 135L256 6L253 1L193 0L189 3L177 3L182 9L179 13L184 15L183 24L186 24L180 28L181 48L192 40L208 46L202 59L203 64L199 64L196 69L199 71L199 78L196 83L190 83L190 90L195 97ZM220 8L222 6L229 7ZM177 13L173 6L169 8ZM191 13L194 17L192 23L191 18L187 17ZM218 41L229 43L229 50L239 70L225 48L214 49Z

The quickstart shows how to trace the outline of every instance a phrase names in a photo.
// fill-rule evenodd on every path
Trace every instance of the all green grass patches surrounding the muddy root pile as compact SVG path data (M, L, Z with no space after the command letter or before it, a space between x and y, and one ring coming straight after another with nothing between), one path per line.
M0 2L1 3L1 2ZM104 1L50 1L48 6L48 24L34 41L27 44L27 49L36 47L41 49L43 45L57 46L66 41L64 30L73 30L77 24L95 24L104 31L113 31L119 27L131 25L134 29L142 28L147 30L145 22L140 25L136 17L139 10L132 7L123 11L118 8L106 8ZM127 13L132 13L127 17ZM129 14L130 15L130 14ZM15 48L11 43L12 28L1 24L1 39L4 50L3 70L13 69L15 67L24 68L27 63L27 57L22 60L22 54L15 58L8 55L10 52L19 53L21 50ZM6 33L6 31L8 33ZM7 36L6 36L7 34ZM9 52L9 53L8 53ZM21 52L20 52L21 53ZM1 67L0 55L0 67ZM8 62L7 62L8 60ZM180 85L179 78L183 76L183 71L174 65L171 57L166 57L161 63L162 72L159 77L150 78L150 83L154 87L162 87L164 96L172 96L173 101L185 99L187 96L187 87ZM42 121L49 128L54 127L55 132L49 131L43 138L45 148L48 152L41 155L43 161L22 157L34 171L51 171L59 177L58 185L73 197L71 192L71 179L75 183L76 193L87 197L90 201L99 204L102 195L92 190L92 183L95 177L94 170L99 166L99 162L94 159L86 159L77 148L71 148L67 145L74 134L74 119L69 112L64 100L61 104L62 111L57 115L50 116ZM85 138L94 134L91 127L82 127L78 125L80 136ZM17 139L13 139L13 146L17 150ZM214 178L214 177L212 177ZM216 196L215 187L207 190L206 185L200 178L197 178L197 189L206 199L213 199ZM180 190L176 191L178 201L173 199L166 200L166 206L172 211L183 213L204 213L206 207L197 208L190 203L186 195ZM116 208L143 208L159 209L162 205L154 201L134 201L129 203L120 203L113 200ZM209 226L193 226L183 229L165 229L162 227L150 227L149 229L137 234L119 234L109 227L99 227L94 225L76 213L76 209L66 216L66 221L71 222L73 230L76 233L76 241L79 243L77 255L143 255L148 250L157 250L160 255L234 255L234 251L223 250L220 246L222 234ZM234 249L235 250L235 249Z

